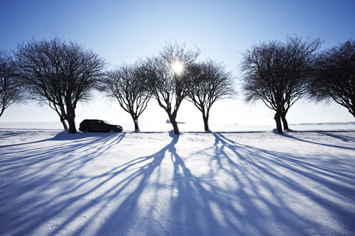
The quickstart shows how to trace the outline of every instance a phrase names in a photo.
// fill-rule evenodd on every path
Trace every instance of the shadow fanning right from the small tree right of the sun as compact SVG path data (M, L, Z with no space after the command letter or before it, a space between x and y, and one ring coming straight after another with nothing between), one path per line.
M332 212L334 219L339 220L346 227L351 227L352 232L354 232L355 226L349 225L349 219L355 219L354 210L344 208L339 204L340 201L343 204L344 202L354 201L355 172L349 172L351 168L344 168L342 164L330 164L324 167L322 166L324 162L318 163L317 159L314 161L302 160L293 154L287 154L287 152L273 152L249 145L241 145L220 133L214 134L214 137L216 138L214 146L217 152L215 158L219 169L225 169L221 164L221 159L227 159L231 166L241 169L239 174L231 173L234 178L239 180L239 183L244 183L239 194L245 196L245 198L252 196L243 189L251 189L256 194L268 193L258 194L258 201L261 201L264 207L273 213L272 215L278 216L278 221L287 226L289 230L292 229L293 233L296 232L297 235L307 234L305 228L297 225L309 225L310 228L314 228L320 234L337 233L330 231L326 227L327 225L320 225L315 219L297 212L297 207L291 208L289 199L293 196L307 199L315 205L322 206L323 210ZM217 145L217 143L221 145ZM226 150L236 154L239 157L239 163L229 159ZM305 183L317 186L317 189L310 189ZM283 192L283 189L287 191ZM332 198L329 198L327 194ZM268 198L265 196L268 196ZM272 201L270 201L271 199ZM275 206L275 203L279 203L279 206ZM253 205L251 202L245 203L245 206L254 212L261 210L260 207ZM244 225L248 224L248 222L244 222ZM253 224L254 227L259 228L259 232L263 235L268 235L268 231L271 230L271 225L258 222L257 219L253 221Z

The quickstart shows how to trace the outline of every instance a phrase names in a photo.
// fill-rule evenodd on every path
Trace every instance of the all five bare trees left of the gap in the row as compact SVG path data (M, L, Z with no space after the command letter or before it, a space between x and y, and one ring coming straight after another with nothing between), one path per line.
M82 45L59 38L32 39L18 45L15 60L1 52L1 114L11 103L35 99L58 114L64 129L76 133L77 103L97 89L119 101L136 130L152 98L168 114L175 134L180 133L176 118L184 99L200 109L209 130L209 110L215 101L234 94L233 78L223 64L196 62L200 52L168 43L156 56L107 72L107 62Z

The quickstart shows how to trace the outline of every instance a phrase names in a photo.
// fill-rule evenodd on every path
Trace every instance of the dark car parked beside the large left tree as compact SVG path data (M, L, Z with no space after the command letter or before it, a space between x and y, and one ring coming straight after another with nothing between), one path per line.
M79 130L82 132L122 132L121 125L111 125L105 120L82 120Z

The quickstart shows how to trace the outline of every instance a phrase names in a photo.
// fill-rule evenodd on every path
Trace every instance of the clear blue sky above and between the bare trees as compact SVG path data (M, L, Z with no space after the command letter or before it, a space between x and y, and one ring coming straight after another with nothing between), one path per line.
M260 41L285 40L286 35L321 38L323 48L344 43L355 35L355 1L90 1L0 0L0 50L16 50L29 38L62 37L94 50L114 67L159 52L165 40L197 45L201 60L224 62L239 77L241 53ZM236 89L239 89L238 83ZM77 108L77 121L102 118L130 121L117 102L100 94ZM163 121L165 111L152 100L141 122ZM200 111L184 101L178 120L202 122ZM0 122L59 121L55 111L36 103L11 106ZM289 123L348 122L354 117L342 106L298 101L290 108ZM273 111L262 103L234 100L212 106L210 123L273 124Z

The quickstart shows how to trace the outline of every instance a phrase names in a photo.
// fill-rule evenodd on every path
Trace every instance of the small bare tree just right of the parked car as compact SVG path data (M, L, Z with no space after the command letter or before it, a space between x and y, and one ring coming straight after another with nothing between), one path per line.
M140 73L142 63L124 64L109 72L104 79L107 96L117 99L121 108L131 115L135 130L139 130L138 117L141 116L151 99L148 80Z

